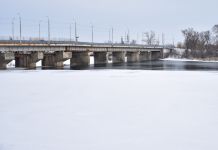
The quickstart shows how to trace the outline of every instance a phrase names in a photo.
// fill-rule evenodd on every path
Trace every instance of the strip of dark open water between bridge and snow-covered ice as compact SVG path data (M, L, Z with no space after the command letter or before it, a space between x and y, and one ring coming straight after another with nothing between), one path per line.
M64 68L37 67L36 70L181 70L181 71L218 71L218 62L197 62L197 61L144 61L136 63L100 64L90 66ZM31 70L25 68L8 68L7 70ZM35 70L35 69L34 69ZM1 70L0 70L1 71Z

